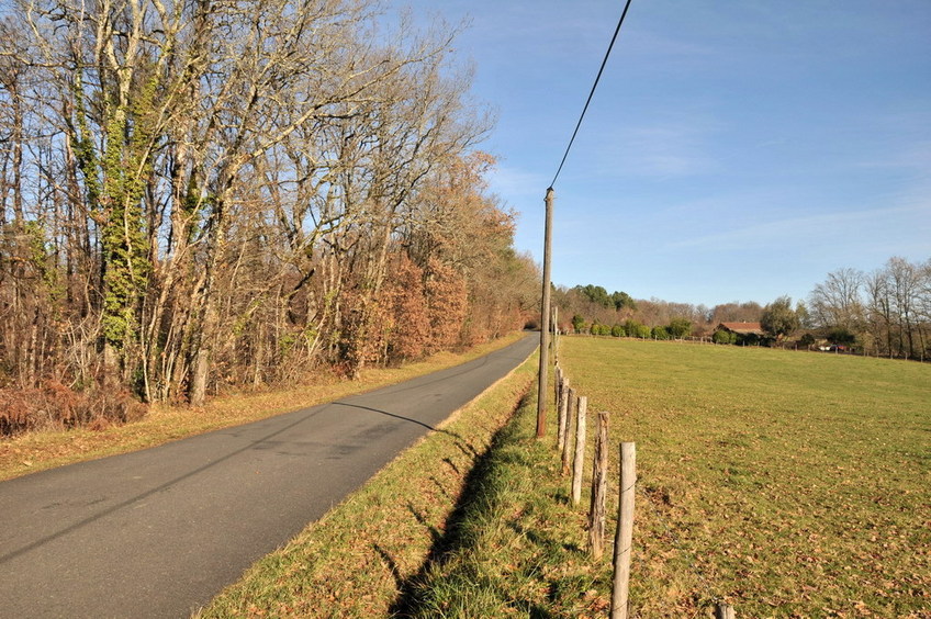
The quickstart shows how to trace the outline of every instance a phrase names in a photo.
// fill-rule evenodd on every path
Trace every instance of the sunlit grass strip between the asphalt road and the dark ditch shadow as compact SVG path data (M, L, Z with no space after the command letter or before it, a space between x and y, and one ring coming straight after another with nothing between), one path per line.
M408 607L420 574L461 533L460 497L475 494L489 448L534 378L531 359L257 562L200 617L384 617Z

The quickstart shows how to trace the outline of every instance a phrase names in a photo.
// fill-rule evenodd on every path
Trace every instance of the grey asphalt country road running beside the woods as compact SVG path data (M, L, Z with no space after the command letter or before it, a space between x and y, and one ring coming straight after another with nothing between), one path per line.
M0 483L0 617L178 618L536 348Z

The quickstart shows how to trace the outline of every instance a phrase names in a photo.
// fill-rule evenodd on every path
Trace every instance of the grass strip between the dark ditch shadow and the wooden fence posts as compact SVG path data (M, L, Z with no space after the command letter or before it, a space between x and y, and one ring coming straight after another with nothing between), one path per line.
M528 398L470 476L453 526L392 608L395 616L604 617L609 572L584 550L551 441Z

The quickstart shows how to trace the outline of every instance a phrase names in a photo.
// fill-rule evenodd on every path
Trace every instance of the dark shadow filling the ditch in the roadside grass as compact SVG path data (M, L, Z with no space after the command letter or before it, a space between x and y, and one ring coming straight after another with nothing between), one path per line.
M529 394L525 395L518 402L514 412L517 413L521 407L527 406L529 397ZM435 534L434 544L416 574L407 578L400 578L397 572L392 571L397 581L400 593L391 606L391 617L427 617L430 609L436 608L429 599L434 578L437 574L442 573L445 567L449 566L453 556L475 548L481 533L481 524L500 507L500 488L503 483L500 471L503 464L512 461L511 457L502 453L501 448L513 441L517 431L519 430L512 420L492 436L490 446L483 453L478 453L469 446L469 449L474 453L473 465L467 473L462 493L446 520L446 526L442 529L446 532L439 536L436 534L436 529L431 530ZM459 444L457 447L462 449ZM463 451L466 450L463 449ZM394 561L386 556L382 549L377 548L375 550L389 565L394 564ZM456 567L450 567L450 570L455 571ZM463 590L462 595L467 596L469 592ZM503 596L502 601L518 608L531 618L547 619L552 617L545 608L527 600L507 600L506 596Z

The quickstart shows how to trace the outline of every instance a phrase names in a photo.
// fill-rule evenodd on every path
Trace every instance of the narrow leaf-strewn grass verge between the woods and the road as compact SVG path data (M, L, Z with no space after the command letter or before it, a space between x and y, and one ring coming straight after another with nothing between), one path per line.
M102 429L30 432L0 440L0 481L45 469L155 447L218 428L246 424L289 410L399 383L464 363L516 341L521 334L478 346L464 353L444 352L401 368L370 369L357 381L322 376L290 390L217 397L202 408L158 406L142 420Z

